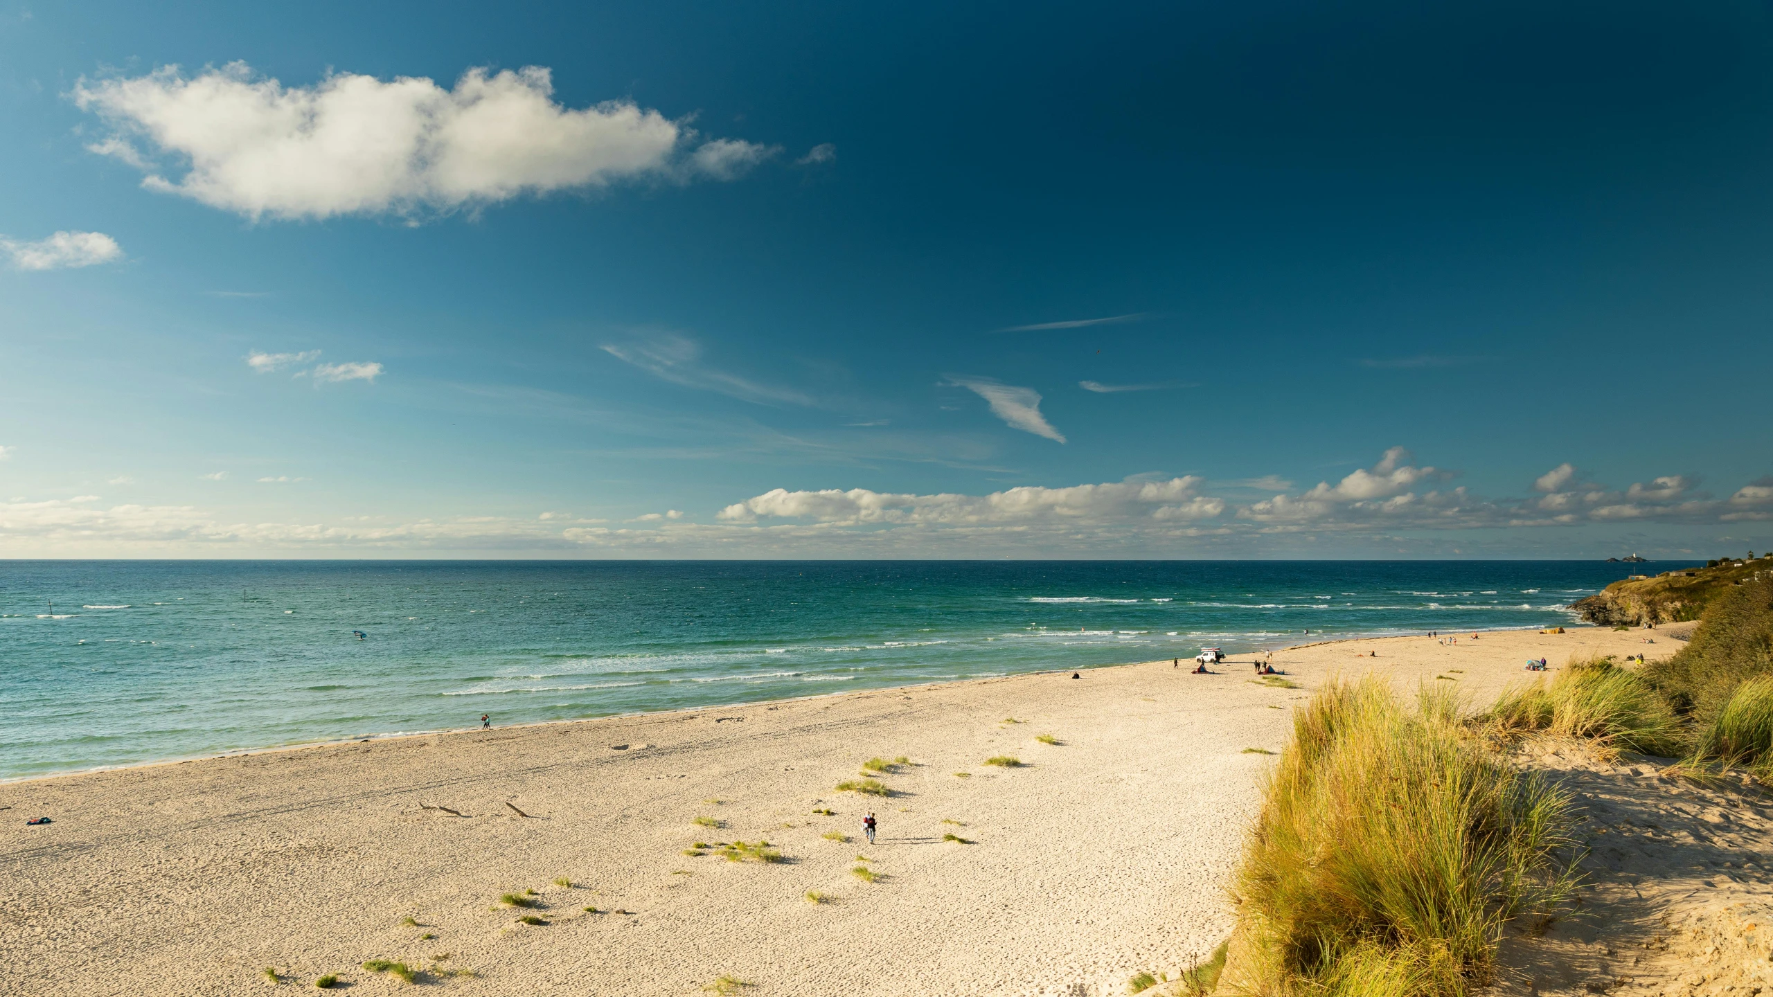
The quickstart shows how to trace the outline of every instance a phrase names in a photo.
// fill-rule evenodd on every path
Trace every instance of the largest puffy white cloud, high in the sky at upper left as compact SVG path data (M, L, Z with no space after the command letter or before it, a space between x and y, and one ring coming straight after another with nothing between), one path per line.
M184 78L82 80L82 110L113 133L89 145L147 172L149 190L248 218L449 211L622 179L732 179L775 154L633 101L567 108L548 69L429 78L337 73L310 87L257 78L245 62ZM147 149L144 153L144 147ZM688 154L684 154L688 151ZM172 176L160 165L183 170Z

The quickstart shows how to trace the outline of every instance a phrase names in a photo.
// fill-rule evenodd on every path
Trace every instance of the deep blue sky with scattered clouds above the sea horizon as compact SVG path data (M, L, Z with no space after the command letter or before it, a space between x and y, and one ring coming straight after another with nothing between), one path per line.
M0 557L1773 546L1762 4L0 0Z

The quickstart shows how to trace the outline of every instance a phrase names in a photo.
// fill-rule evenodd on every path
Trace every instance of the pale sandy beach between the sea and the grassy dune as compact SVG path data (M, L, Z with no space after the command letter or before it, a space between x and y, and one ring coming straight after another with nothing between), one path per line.
M1346 640L1277 651L1298 688L1239 655L1213 676L1156 662L0 784L0 993L241 993L268 967L406 986L365 960L463 993L1122 993L1230 930L1223 880L1271 761L1246 749L1278 750L1326 678L1486 703L1530 656L1677 648ZM833 789L874 756L910 759L879 777L890 797ZM684 855L759 839L782 862ZM534 908L498 903L525 891Z

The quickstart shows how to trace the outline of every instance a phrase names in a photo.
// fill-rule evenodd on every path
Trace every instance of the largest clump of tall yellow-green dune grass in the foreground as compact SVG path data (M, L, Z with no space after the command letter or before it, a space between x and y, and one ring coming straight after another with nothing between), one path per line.
M1365 678L1294 711L1234 885L1243 990L1463 997L1511 919L1569 898L1569 795L1509 768L1450 692L1417 699Z

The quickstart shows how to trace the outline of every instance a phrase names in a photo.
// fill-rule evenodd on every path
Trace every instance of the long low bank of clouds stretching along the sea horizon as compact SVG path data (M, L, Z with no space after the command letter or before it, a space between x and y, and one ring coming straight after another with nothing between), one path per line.
M227 472L202 475L227 479ZM0 553L41 543L103 543L158 550L197 545L207 552L594 552L603 555L1002 555L1044 546L1074 553L1188 555L1200 541L1264 536L1401 536L1505 527L1557 529L1617 522L1773 522L1773 477L1713 498L1681 475L1624 490L1548 491L1576 477L1560 465L1535 483L1539 497L1484 498L1436 484L1454 472L1417 465L1392 447L1372 467L1337 483L1255 502L1211 495L1199 475L1142 477L1069 488L1021 486L986 495L886 493L867 488L773 488L695 522L681 509L645 513L608 527L603 518L562 511L534 516L456 516L395 522L353 516L351 523L227 522L199 506L101 506L96 495L0 502ZM300 483L305 477L259 477ZM1223 483L1227 488L1285 484L1284 479ZM1427 486L1427 488L1422 488Z

